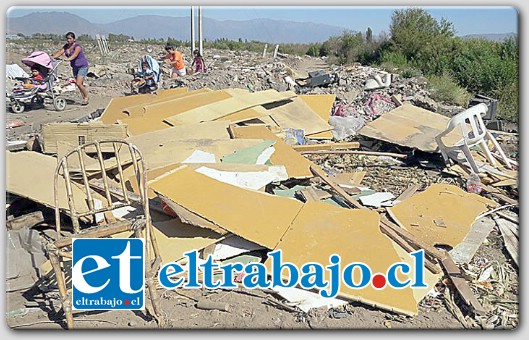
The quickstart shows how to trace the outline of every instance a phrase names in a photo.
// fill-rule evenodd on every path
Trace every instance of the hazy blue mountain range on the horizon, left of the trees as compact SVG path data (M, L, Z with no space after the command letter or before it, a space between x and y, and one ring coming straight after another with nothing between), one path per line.
M245 21L215 20L203 18L203 37L206 40L226 38L268 43L314 43L324 42L331 36L339 36L346 30L338 26L316 23L301 23L285 20L254 19ZM124 34L140 39L167 39L168 37L189 41L191 23L188 17L157 15L136 16L107 24L92 23L67 12L36 12L18 18L7 18L7 34L34 33L77 35ZM198 32L195 31L198 39Z

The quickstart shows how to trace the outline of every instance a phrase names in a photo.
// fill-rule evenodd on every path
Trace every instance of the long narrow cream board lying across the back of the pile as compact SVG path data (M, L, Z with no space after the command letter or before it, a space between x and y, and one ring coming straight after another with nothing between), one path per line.
M165 121L171 125L210 121L254 106L274 103L296 96L291 91L278 92L272 89L254 93L238 93L238 91L232 91L231 94L231 98L180 113L177 116L165 119Z

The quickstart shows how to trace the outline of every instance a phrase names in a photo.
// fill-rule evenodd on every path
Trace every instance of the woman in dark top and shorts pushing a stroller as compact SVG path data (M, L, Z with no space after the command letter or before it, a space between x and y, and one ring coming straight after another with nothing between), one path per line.
M69 61L70 66L72 66L75 84L83 96L81 105L88 105L88 92L83 85L84 78L88 74L88 60L84 55L81 45L75 41L75 34L73 32L66 33L66 44L62 47L62 50L55 53L53 58L58 58L63 54L66 57L64 60Z

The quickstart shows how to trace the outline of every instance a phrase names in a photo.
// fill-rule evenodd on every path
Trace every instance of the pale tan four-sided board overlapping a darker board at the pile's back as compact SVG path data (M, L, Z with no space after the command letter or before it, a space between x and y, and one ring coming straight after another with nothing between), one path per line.
M300 98L293 98L291 102L270 109L269 112L270 117L281 128L302 129L305 135L333 129Z

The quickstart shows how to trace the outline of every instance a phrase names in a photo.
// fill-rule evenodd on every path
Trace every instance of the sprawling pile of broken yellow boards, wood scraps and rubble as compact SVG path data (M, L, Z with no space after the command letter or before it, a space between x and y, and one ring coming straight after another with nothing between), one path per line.
M319 86L302 89L311 84L307 78L294 80L291 90L275 89L275 79L284 80L289 73L285 67L248 70L272 80L261 81L263 88L250 88L251 82L241 76L231 80L247 84L246 89L213 89L200 85L203 75L183 78L190 87L179 84L156 94L114 97L94 120L43 126L42 152L6 151L8 238L18 240L8 249L8 263L17 264L8 267L8 287L56 295L53 271L42 254L47 242L66 235L54 230L50 209L68 225L65 217L72 215L74 198L84 202L75 207L79 212L93 199L112 207L113 199L126 197L125 192L142 195L133 185L135 167L127 158L101 161L105 188L122 188L115 197L97 196L101 186L76 183L94 175L94 151L79 153L80 164L56 175L57 161L72 149L112 139L134 145L143 155L162 263L184 265L185 253L200 250L203 261L211 255L218 264L270 267L267 254L280 249L283 261L298 267L327 264L336 254L343 264L362 262L375 274L386 273L394 263L413 268L409 253L422 250L423 288L342 285L335 298L300 287L271 287L269 293L282 297L278 305L309 314L327 308L334 313L329 315L339 314L339 308L346 313L346 306L355 303L416 316L440 299L463 327L517 326L517 274L507 270L518 266L518 164L497 143L510 134L487 130L476 147L439 149L437 137L451 119L413 104L414 93L421 92L415 91L418 83L370 78L368 69L354 67L334 72L336 82L314 94ZM215 78L211 72L210 82ZM357 89L361 79L363 88ZM409 95L400 91L398 98L395 86L411 88ZM369 92L379 87L385 92ZM333 92L347 99L337 101ZM365 105L362 96L368 92ZM331 125L333 117L362 118L362 124L347 129L344 121ZM445 142L457 144L461 138L465 135L456 131ZM445 166L440 151L446 151L452 166ZM27 181L35 169L38 185ZM55 182L56 176L66 175L72 187ZM126 217L94 216L82 222L81 232L98 221L120 219ZM75 236L76 229L72 222L62 232ZM508 269L484 257L475 262L493 229L510 256ZM34 270L24 271L28 266ZM239 280L245 275L235 274ZM414 274L401 271L399 281L413 280Z

